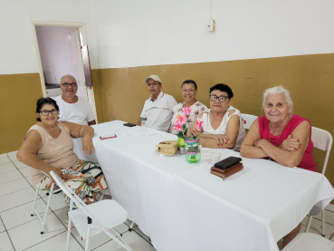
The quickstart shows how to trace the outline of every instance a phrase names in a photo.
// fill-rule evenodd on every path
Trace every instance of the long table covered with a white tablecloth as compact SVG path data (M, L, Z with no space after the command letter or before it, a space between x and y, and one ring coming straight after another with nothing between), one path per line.
M139 127L119 134L123 121L94 125L96 156L111 196L126 208L129 219L151 238L159 251L277 251L276 242L329 204L334 189L319 173L286 168L266 159L243 158L244 169L220 179L210 174L210 152L222 159L233 150L204 149L199 164L184 155L160 156L155 150L175 135Z

